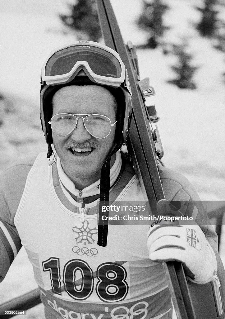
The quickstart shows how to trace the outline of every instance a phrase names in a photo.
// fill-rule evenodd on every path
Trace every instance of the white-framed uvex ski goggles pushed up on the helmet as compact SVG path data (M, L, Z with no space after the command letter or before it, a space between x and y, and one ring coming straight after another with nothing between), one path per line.
M41 84L68 83L82 69L95 83L119 87L125 81L127 86L127 71L118 53L92 41L76 41L52 52L43 65Z

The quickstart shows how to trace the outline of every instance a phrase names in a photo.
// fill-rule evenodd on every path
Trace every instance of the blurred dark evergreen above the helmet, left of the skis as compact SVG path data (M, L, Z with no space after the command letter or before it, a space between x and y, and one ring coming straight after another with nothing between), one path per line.
M68 4L69 15L60 15L63 23L76 33L78 40L88 39L98 42L101 37L97 7L95 0L77 0Z

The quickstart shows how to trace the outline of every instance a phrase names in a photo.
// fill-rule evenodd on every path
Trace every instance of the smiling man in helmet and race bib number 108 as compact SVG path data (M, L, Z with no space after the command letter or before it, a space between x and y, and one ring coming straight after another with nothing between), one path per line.
M216 234L204 225L201 208L203 231L196 223L109 225L107 234L108 227L98 225L99 198L110 194L116 204L146 200L132 166L118 151L131 110L129 80L118 54L78 41L54 51L41 76L41 123L50 166L41 153L1 175L1 278L23 245L47 319L169 319L170 294L159 262L179 260L190 280L213 283L221 315L224 272ZM164 167L159 172L168 200L191 199L199 206L186 179ZM188 242L188 232L195 245Z

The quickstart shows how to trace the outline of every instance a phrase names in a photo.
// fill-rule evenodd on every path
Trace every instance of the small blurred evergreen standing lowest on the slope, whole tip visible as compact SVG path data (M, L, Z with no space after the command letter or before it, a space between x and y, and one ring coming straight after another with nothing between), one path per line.
M173 54L178 57L178 63L171 66L172 70L177 73L177 78L167 82L177 85L181 89L195 89L196 85L192 81L194 72L198 69L192 66L192 54L187 52L187 40L184 39L181 45L173 44Z

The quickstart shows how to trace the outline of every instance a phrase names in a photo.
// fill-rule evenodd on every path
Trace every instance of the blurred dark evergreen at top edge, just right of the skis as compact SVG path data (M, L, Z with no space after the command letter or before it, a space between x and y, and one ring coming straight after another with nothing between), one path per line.
M151 0L151 2L143 0L143 11L137 19L137 25L149 33L145 47L156 48L164 31L169 29L163 25L163 14L168 9L169 7L161 0Z

